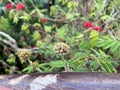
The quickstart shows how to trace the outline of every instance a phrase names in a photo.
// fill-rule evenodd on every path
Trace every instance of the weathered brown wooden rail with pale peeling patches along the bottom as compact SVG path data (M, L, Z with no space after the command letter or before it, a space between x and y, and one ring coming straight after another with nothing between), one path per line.
M3 75L0 76L0 90L120 90L120 75L103 73Z

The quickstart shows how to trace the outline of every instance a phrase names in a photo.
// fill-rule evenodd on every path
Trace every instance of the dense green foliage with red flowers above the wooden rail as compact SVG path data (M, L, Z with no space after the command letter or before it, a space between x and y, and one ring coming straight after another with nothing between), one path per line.
M0 0L0 74L120 70L120 0Z

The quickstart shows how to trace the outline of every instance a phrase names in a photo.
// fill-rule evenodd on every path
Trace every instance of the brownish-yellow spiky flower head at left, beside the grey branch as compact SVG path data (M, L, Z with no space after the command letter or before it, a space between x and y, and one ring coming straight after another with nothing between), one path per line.
M31 52L28 49L18 49L17 55L21 60L27 60L30 57Z

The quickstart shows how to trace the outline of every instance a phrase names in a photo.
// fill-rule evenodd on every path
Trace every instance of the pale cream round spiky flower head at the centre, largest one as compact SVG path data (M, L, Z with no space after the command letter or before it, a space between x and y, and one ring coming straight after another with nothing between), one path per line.
M56 53L58 53L60 55L64 55L64 54L69 53L70 46L67 45L66 43L59 42L54 46L54 50Z

